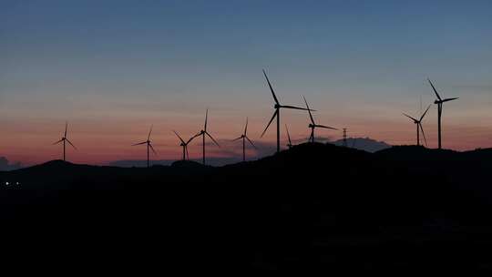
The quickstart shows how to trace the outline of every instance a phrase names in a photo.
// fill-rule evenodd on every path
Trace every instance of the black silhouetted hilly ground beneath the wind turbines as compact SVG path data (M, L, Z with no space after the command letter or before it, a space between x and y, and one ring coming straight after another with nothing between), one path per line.
M0 172L3 251L75 272L491 271L490 172L492 149L322 144L221 168L50 161Z

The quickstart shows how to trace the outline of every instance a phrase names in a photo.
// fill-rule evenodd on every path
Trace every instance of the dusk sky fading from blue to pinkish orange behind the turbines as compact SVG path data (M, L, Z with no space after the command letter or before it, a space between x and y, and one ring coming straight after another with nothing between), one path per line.
M416 115L435 97L446 103L444 146L492 147L492 2L487 1L1 1L0 156L24 164L68 158L105 164L144 159L154 125L156 159L179 159L176 129L210 132L215 157L272 116L265 68L285 104L318 110L321 124L349 136L415 143ZM308 117L286 111L292 137L306 138ZM436 107L425 118L436 147ZM340 139L342 132L319 133ZM250 152L251 155L255 153ZM192 157L200 147L190 147Z

